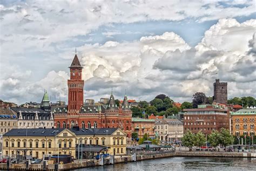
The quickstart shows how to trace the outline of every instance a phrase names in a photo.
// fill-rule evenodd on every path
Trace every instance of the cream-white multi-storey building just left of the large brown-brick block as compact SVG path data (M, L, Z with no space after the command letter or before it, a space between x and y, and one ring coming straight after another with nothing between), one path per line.
M160 142L177 143L183 138L183 123L178 119L157 119L155 125Z

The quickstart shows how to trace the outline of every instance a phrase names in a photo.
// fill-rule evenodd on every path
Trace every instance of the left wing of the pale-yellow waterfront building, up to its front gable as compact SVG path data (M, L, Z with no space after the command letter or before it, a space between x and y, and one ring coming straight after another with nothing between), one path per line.
M64 128L11 129L3 135L3 156L76 154L75 134ZM59 145L58 145L59 143Z

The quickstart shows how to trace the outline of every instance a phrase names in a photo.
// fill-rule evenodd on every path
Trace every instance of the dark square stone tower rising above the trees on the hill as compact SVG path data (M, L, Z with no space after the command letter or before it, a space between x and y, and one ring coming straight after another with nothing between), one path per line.
M220 104L227 104L227 83L220 83L220 80L216 79L213 88L213 100Z

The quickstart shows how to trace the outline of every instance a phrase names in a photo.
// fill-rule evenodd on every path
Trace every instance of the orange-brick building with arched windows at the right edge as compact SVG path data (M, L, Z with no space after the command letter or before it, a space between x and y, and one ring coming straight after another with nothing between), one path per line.
M256 108L231 112L232 134L236 136L254 136L256 132Z

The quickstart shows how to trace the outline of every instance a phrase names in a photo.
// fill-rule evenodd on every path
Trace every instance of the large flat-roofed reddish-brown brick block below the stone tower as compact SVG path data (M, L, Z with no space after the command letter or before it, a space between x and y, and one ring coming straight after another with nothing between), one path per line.
M230 113L227 108L218 105L198 105L198 108L184 109L184 133L199 131L211 134L220 128L230 130Z

